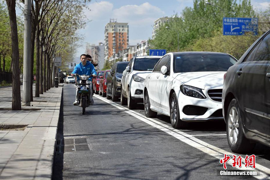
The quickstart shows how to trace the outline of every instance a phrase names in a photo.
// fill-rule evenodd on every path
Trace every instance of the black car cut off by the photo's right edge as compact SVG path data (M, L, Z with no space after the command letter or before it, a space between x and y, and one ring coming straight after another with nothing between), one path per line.
M223 117L233 152L270 146L270 31L255 41L224 74Z

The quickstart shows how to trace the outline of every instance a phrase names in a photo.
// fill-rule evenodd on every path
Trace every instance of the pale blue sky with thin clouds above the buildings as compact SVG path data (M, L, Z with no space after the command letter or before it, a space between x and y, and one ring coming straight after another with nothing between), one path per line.
M256 9L265 10L270 0L251 0L251 4ZM84 42L80 43L75 56L85 53L86 43L104 43L105 25L110 22L110 18L117 19L117 22L128 22L129 45L136 45L152 37L156 19L171 17L175 13L181 15L185 7L192 6L193 0L92 0L88 4L90 10L85 10L90 21L79 31Z

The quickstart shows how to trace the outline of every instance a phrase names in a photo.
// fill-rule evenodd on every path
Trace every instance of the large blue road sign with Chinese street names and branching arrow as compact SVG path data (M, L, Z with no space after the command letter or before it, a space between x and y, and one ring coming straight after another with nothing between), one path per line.
M223 18L223 35L239 36L245 32L258 34L258 18Z

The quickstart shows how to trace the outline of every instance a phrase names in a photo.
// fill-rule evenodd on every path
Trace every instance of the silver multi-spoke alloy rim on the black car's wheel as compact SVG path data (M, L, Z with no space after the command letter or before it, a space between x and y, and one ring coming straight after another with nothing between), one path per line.
M230 142L235 145L238 139L238 124L239 115L237 109L233 106L230 109L229 117L228 117L228 133Z

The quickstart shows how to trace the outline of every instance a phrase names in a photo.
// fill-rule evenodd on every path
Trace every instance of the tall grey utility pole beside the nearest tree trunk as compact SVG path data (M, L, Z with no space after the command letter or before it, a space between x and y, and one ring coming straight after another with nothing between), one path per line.
M31 101L31 60L30 60L30 44L31 44L31 19L32 19L32 1L24 1L24 46L23 46L23 92L22 105L30 106Z

